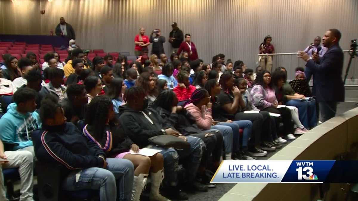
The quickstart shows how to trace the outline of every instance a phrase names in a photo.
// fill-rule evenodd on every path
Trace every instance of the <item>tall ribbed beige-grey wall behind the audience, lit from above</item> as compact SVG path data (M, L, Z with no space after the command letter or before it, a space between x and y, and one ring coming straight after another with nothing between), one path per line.
M82 48L106 52L133 54L140 27L147 35L160 28L168 40L170 24L176 21L184 34L192 35L205 62L223 53L250 68L257 65L258 46L266 35L273 37L276 53L303 50L330 28L342 31L343 49L358 38L357 0L1 0L0 6L1 34L48 35L63 16ZM164 47L169 54L170 44ZM345 54L345 66L348 58ZM274 57L274 67L289 72L303 65L295 55ZM357 68L355 59L349 77L358 77Z

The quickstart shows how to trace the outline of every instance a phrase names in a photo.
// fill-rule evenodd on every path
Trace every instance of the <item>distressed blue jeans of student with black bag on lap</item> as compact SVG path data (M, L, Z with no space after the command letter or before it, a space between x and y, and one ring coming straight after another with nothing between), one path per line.
M205 148L204 142L198 137L189 136L188 142L190 144L190 150L184 152L180 149L164 148L154 145L149 145L147 148L153 148L161 150L164 158L164 185L176 186L178 184L178 165L180 160L185 159L187 163L187 176L188 182L192 183L196 178L200 161L203 155L203 149Z

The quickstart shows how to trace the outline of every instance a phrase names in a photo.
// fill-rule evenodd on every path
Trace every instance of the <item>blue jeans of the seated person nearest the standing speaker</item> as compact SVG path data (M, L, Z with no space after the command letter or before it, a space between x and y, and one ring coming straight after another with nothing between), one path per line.
M305 128L313 128L317 126L317 110L315 99L310 101L289 100L285 104L287 106L295 106L298 108L300 122Z

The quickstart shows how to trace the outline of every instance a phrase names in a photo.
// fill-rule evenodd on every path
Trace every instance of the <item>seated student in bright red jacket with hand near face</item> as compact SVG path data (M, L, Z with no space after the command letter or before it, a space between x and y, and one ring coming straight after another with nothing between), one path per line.
M193 85L190 85L189 74L182 71L176 78L178 79L179 84L173 89L173 92L179 101L189 100L196 89Z

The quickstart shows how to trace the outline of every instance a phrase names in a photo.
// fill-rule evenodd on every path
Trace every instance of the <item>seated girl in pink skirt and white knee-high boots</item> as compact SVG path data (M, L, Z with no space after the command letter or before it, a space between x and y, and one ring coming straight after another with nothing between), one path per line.
M116 78L120 79L120 78ZM106 95L95 97L88 104L83 133L95 142L108 158L124 158L134 165L134 181L131 200L139 201L140 194L146 184L151 170L150 200L167 201L159 194L160 183L164 178L163 155L156 153L148 157L131 154L139 151L139 147L126 135L115 119L113 104Z

